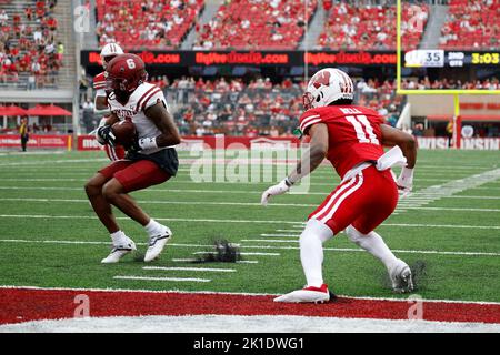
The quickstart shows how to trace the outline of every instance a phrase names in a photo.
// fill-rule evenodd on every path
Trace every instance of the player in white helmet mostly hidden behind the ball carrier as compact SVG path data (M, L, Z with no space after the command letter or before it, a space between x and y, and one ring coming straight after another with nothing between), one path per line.
M123 54L123 50L117 43L108 43L101 50L101 62L103 72L100 72L93 78L93 90L96 92L96 99L93 104L93 112L98 115L103 115L101 124L104 124L108 114L110 113L108 108L108 94L106 93L106 67L117 55ZM124 148L117 144L114 146L104 144L106 154L111 161L123 159L126 155Z

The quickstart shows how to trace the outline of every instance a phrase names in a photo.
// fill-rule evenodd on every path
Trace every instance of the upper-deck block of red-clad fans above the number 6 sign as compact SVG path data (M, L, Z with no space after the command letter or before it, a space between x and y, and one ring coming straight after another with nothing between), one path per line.
M310 0L233 0L219 8L214 19L197 27L194 49L296 49L317 8Z

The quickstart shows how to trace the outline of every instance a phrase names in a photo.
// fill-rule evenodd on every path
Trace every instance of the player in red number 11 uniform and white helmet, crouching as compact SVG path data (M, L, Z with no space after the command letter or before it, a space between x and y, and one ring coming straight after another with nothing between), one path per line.
M412 189L417 148L413 136L383 123L370 109L352 104L354 85L344 72L323 69L309 81L300 118L302 134L310 138L310 151L292 173L262 194L266 205L328 159L341 178L340 185L309 215L300 236L300 260L307 278L302 290L277 297L276 302L327 302L323 282L322 244L346 230L348 237L379 258L397 292L413 288L410 267L397 258L374 232L396 209L398 189ZM393 146L384 153L382 146ZM403 165L394 182L391 166Z

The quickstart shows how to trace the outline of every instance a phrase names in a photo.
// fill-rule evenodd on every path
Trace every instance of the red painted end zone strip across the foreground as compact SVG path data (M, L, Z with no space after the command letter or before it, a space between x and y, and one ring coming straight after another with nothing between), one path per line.
M74 303L79 294L89 297L93 317L218 314L408 320L411 306L401 301L346 297L314 305L274 303L272 296L233 294L0 288L0 324L71 318L79 305ZM500 323L500 304L424 302L423 320Z

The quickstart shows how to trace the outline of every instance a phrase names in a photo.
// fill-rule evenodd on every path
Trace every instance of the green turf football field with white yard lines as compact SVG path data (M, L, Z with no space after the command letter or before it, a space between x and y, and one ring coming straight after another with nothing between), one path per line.
M499 152L419 152L417 193L378 232L399 257L426 264L417 291L422 297L500 302L499 162ZM269 183L194 183L181 161L176 179L133 193L174 233L161 258L144 264L127 256L101 265L110 241L83 184L106 163L101 152L0 154L0 285L286 293L304 284L301 223L339 182L324 165L312 174L311 194L279 196L263 207ZM147 241L142 227L117 215L136 243ZM239 243L247 263L173 261L211 250L217 239ZM140 256L146 245L138 246ZM326 248L326 282L337 294L404 297L391 293L383 266L344 234Z

